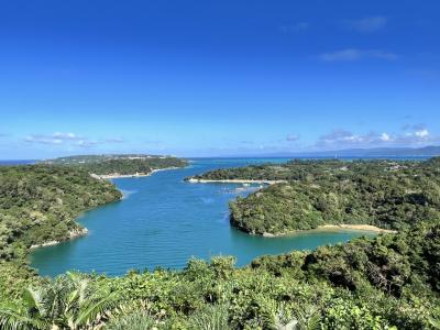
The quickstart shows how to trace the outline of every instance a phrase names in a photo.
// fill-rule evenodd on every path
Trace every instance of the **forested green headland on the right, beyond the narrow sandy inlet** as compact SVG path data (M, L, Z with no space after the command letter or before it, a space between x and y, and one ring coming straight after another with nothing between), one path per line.
M218 169L196 178L287 180L231 202L232 226L254 234L341 223L402 230L440 215L440 158L293 161Z

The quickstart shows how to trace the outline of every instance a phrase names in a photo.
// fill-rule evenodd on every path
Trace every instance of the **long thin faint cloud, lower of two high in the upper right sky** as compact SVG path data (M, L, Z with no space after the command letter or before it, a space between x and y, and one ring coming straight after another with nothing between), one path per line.
M319 59L323 62L355 62L361 59L385 59L395 61L399 56L394 53L380 51L380 50L356 50L356 48L345 48L336 52L322 53L318 56Z

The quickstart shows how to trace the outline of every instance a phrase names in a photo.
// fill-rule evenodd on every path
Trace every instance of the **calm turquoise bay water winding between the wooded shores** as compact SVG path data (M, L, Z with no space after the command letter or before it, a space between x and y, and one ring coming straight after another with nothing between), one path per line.
M242 233L229 224L228 202L256 187L188 184L186 176L218 167L286 160L196 160L187 168L113 183L124 199L86 212L87 237L35 250L32 266L54 276L68 270L122 275L131 268L182 268L191 256L235 255L245 265L263 254L344 242L360 231L304 232L284 238Z

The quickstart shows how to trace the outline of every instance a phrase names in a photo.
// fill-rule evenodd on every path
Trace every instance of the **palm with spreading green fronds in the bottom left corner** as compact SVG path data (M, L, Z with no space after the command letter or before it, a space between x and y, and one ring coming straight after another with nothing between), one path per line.
M117 305L114 295L97 295L89 279L67 273L38 288L28 288L22 307L0 308L1 329L92 329Z

